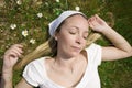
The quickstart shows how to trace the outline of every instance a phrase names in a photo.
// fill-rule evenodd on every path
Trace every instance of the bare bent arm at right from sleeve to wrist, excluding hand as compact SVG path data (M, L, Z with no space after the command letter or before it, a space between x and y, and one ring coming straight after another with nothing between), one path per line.
M113 61L132 56L132 47L120 34L109 29L102 32L114 46L102 47L102 59Z

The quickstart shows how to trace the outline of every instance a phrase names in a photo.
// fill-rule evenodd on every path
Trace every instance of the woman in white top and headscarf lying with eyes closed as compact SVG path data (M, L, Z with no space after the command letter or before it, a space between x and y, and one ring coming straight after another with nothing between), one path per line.
M114 46L92 43L86 47L89 26L103 34ZM132 56L131 45L97 14L87 20L81 12L65 11L50 23L50 34L53 56L28 64L15 88L101 88L98 75L101 61ZM4 53L3 88L12 88L13 66L23 53L22 47L15 44Z

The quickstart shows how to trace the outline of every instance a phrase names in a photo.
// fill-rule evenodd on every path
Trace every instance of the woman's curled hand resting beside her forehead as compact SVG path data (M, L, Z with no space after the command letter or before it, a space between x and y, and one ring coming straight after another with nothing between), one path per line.
M94 15L88 20L89 26L97 32L110 29L110 26L99 15Z

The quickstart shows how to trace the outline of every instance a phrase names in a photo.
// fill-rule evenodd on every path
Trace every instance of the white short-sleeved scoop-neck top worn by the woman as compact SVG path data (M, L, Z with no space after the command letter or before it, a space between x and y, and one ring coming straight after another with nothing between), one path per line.
M91 44L86 48L88 65L86 72L75 88L101 88L98 75L98 66L101 64L101 46ZM66 88L54 82L47 76L45 58L42 57L28 64L23 72L23 78L34 87L40 88Z

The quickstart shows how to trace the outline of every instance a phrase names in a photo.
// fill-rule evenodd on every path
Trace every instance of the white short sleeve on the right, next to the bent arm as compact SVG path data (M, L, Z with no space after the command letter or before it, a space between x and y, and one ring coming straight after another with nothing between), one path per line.
M86 51L88 55L88 62L99 66L101 64L101 46L94 43L88 48L86 48Z

